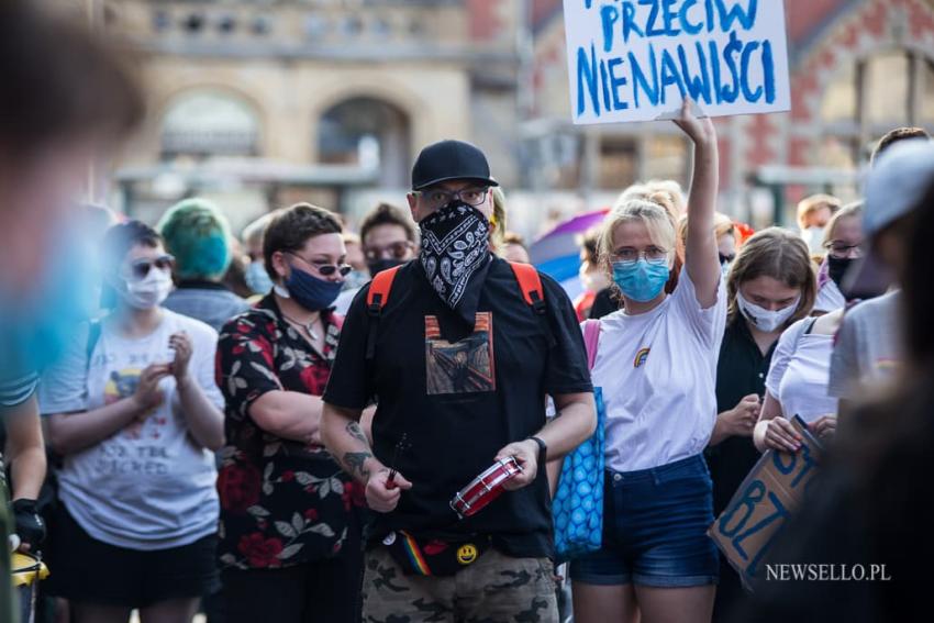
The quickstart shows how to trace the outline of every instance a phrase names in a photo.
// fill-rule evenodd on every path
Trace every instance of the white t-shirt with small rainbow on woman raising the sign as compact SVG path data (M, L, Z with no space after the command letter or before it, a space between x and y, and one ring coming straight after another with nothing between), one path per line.
M726 326L723 279L701 309L681 270L675 291L651 312L600 320L593 385L607 408L607 466L633 471L700 454L716 418L716 359Z

